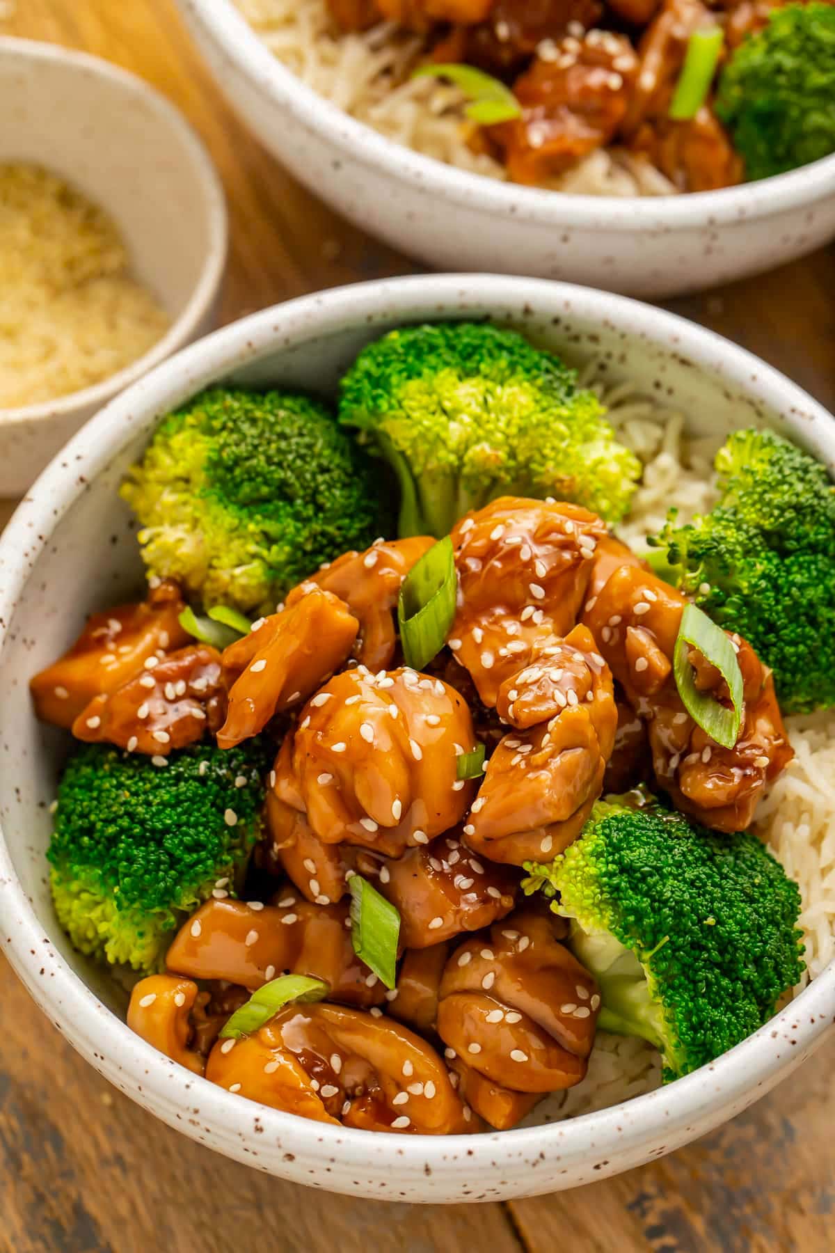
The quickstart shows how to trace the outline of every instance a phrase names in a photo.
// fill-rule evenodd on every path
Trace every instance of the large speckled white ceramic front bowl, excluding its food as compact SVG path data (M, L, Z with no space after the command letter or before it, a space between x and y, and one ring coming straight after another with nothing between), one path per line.
M835 424L761 361L670 313L580 287L494 276L388 279L264 309L158 366L48 467L0 541L0 946L76 1049L118 1088L220 1153L299 1183L389 1200L525 1197L601 1179L701 1135L822 1042L835 965L756 1035L670 1086L573 1121L473 1136L323 1126L233 1096L133 1035L121 999L73 952L46 886L48 804L65 738L39 725L26 680L93 608L139 586L119 480L155 420L218 380L329 390L357 351L403 322L488 316L611 381L660 383L701 432L765 421L835 469ZM70 471L70 472L68 472ZM113 1012L115 1010L115 1012Z

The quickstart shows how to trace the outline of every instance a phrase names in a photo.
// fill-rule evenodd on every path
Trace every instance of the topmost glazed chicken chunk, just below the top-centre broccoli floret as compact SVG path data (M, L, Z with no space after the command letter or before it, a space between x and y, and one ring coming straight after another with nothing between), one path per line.
M459 598L448 637L486 705L543 635L567 635L606 534L578 505L501 496L453 529Z

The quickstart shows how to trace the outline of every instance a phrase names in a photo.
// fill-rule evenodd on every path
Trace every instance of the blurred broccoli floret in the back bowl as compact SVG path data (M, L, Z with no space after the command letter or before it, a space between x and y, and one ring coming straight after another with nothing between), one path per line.
M835 152L835 9L789 4L742 40L725 65L716 113L749 179L784 174Z

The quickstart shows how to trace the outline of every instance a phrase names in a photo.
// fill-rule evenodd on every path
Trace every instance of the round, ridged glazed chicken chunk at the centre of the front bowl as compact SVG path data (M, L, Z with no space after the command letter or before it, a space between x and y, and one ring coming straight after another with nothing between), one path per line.
M398 855L463 818L476 784L458 781L457 763L474 732L441 679L358 667L330 679L302 715L275 763L275 792L305 811L319 840Z

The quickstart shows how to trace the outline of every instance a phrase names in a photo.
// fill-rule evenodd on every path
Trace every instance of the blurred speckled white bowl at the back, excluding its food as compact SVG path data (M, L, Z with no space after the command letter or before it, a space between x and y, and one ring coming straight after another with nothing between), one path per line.
M304 86L232 0L178 0L263 144L351 222L443 269L675 296L769 269L835 234L835 155L762 183L662 198L565 195L453 169Z

